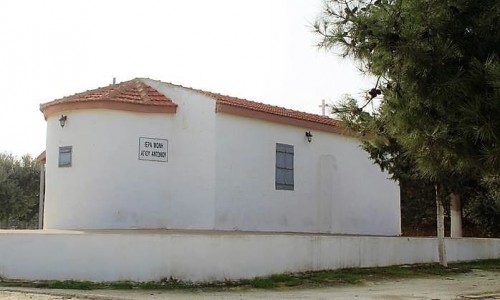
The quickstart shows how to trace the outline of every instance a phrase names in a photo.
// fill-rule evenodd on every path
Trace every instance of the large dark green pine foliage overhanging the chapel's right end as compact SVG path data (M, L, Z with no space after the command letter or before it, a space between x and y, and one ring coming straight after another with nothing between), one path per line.
M450 189L500 170L498 28L496 0L330 0L316 23L320 46L378 78L369 100L383 98L364 130L397 141L422 178Z

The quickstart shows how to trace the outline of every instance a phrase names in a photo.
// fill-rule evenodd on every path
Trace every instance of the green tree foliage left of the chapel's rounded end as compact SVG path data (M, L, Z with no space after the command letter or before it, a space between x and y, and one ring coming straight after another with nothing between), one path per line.
M36 159L0 153L0 228L37 223L40 171Z

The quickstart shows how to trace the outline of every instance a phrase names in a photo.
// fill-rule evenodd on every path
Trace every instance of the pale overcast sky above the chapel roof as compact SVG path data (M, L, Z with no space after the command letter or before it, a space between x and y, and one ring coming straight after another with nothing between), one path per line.
M45 148L39 104L136 77L321 113L370 80L318 50L322 0L2 0L0 152Z

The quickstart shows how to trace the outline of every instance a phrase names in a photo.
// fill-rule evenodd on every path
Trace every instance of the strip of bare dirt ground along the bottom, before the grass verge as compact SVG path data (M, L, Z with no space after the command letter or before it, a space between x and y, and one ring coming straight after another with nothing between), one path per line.
M500 273L474 271L453 277L364 282L314 289L245 290L227 292L144 290L43 290L0 288L0 300L81 299L500 299Z

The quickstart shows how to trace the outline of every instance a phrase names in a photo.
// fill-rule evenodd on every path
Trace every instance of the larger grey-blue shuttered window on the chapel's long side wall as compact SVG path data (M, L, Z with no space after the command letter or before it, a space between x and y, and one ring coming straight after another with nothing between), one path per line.
M276 189L293 191L293 145L276 144Z

